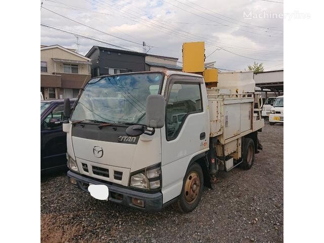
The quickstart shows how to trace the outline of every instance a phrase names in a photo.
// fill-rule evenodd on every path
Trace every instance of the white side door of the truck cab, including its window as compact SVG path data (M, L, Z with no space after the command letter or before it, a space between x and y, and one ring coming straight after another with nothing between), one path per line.
M171 75L165 92L166 123L161 129L163 202L181 192L192 159L209 149L209 112L202 77ZM180 121L173 119L181 117Z

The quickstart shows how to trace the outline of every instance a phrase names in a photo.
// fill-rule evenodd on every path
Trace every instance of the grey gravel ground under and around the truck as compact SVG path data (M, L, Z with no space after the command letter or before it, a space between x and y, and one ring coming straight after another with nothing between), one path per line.
M43 177L42 242L283 242L283 138L284 126L266 121L251 170L220 173L189 214L129 209L70 186L65 173ZM53 240L56 231L73 235Z

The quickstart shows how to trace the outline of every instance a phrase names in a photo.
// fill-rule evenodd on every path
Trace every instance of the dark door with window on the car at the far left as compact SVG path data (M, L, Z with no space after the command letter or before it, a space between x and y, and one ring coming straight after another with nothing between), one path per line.
M64 119L63 109L63 104L53 106L41 124L41 170L66 165L66 133L60 123Z

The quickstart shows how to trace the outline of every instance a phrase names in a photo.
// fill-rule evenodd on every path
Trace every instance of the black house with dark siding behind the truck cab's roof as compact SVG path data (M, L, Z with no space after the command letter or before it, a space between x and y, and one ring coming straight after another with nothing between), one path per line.
M86 54L92 61L92 77L145 71L145 53L93 46Z

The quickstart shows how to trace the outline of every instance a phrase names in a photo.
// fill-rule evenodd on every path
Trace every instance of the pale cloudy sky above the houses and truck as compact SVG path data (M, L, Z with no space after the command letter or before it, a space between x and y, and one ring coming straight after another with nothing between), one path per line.
M245 70L253 62L265 71L284 68L284 4L276 3L283 0L42 2L41 45L86 55L92 46L143 52L145 42L145 52L179 58L181 66L182 44L205 41L206 62L221 71Z

